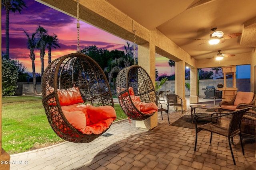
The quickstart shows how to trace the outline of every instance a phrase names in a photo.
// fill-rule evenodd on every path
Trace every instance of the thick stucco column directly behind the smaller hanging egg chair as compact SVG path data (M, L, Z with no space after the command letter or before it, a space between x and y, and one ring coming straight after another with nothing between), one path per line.
M155 84L156 67L156 47L153 43L138 45L138 65L142 66L149 74L153 84ZM158 113L143 121L136 121L136 127L143 129L153 129L158 124Z

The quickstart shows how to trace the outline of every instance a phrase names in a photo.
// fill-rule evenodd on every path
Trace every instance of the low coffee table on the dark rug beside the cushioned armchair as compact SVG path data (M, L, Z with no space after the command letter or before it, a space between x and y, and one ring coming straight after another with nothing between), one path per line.
M196 118L198 116L206 116L206 117L210 117L211 114L208 113L196 113L196 108L200 108L200 109L214 109L215 112L220 112L221 107L220 106L216 106L216 105L210 105L210 104L193 104L190 105L191 107L191 121L193 123L193 117ZM194 110L194 113L193 113ZM218 123L218 119L217 119L217 123Z

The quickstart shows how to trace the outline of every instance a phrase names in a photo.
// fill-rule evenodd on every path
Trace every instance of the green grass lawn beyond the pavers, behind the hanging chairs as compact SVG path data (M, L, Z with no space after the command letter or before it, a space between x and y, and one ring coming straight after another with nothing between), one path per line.
M115 104L117 120L127 116ZM9 154L34 150L64 140L52 131L41 97L2 98L2 148Z

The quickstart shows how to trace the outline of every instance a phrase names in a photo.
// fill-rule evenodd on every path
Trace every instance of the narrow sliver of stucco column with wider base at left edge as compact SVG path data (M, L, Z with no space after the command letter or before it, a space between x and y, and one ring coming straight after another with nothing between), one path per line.
M0 9L1 12L1 9ZM1 16L0 16L1 19ZM0 30L2 30L1 25L0 25ZM0 39L0 44L2 44L2 39ZM2 51L2 47L0 46L0 50ZM0 86L2 87L2 60L0 61ZM0 90L0 148L1 148L1 152L0 152L0 160L3 161L3 164L0 164L0 169L1 170L8 170L10 169L10 155L4 151L4 149L2 149L2 88ZM5 162L4 162L5 161ZM6 163L7 162L7 163ZM5 164L4 164L5 163Z

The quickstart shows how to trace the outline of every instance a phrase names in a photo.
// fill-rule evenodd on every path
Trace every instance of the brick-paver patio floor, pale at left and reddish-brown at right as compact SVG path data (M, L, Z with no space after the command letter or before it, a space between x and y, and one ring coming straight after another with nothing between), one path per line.
M202 100L199 100L201 102ZM212 100L206 100L212 102ZM170 124L190 115L188 109L181 111L170 107ZM206 109L198 109L205 112ZM224 125L228 118L222 119ZM127 119L113 123L111 128L91 143L64 142L47 148L11 155L10 169L47 170L92 170L92 169L246 169L256 170L255 142L243 141L244 153L239 136L234 137L232 149L236 165L233 164L228 140L214 134L210 144L210 133L198 134L198 148L194 151L196 130L168 124L167 114L158 112L158 126L148 131L135 127L135 121ZM25 163L27 161L27 163Z

